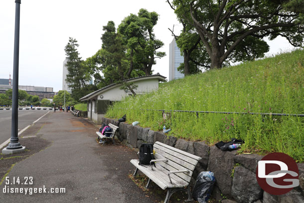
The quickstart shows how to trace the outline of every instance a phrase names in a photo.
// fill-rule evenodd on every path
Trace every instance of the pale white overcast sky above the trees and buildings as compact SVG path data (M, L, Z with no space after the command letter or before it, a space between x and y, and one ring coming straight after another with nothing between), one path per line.
M101 48L103 25L113 20L117 27L124 17L137 14L140 8L159 14L154 33L164 43L159 51L167 55L157 59L152 69L168 77L169 43L173 37L167 28L178 21L166 0L21 0L19 85L61 90L64 47L69 37L78 41L78 51L85 60ZM0 0L0 78L8 79L9 74L12 78L14 20L14 0ZM292 49L283 38L268 43L268 55Z

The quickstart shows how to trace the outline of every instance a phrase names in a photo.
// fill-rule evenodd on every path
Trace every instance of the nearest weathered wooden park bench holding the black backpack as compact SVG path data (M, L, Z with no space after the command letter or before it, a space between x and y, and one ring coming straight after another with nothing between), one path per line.
M140 170L149 178L146 188L153 181L162 190L167 189L164 203L168 203L171 195L179 190L187 192L187 202L192 201L189 183L201 158L160 142L155 142L153 150L155 160L150 163L154 162L155 166L139 165L139 160L136 159L130 161L136 167L134 176Z

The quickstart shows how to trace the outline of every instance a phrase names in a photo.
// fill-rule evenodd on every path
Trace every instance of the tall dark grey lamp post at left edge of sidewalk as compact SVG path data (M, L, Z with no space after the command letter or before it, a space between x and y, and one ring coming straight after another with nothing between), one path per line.
M2 150L2 154L22 152L25 147L18 139L18 73L19 73L19 33L20 33L20 4L21 0L15 0L15 37L14 37L14 61L13 61L13 86L12 86L12 112L11 112L11 137L10 143Z

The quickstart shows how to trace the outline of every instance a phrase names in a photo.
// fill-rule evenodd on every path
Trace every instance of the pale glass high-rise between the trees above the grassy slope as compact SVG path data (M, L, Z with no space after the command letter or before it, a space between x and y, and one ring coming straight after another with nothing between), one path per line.
M184 62L184 58L180 55L175 38L173 38L169 47L169 81L171 81L184 77L184 74L177 70L177 67Z

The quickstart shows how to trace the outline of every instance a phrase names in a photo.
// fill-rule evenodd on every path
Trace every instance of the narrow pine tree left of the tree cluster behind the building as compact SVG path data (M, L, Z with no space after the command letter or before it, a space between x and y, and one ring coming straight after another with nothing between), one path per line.
M65 46L64 51L67 56L67 69L68 74L66 75L66 82L72 89L72 97L78 100L84 95L80 95L79 91L81 88L86 87L86 82L91 78L86 74L86 69L83 64L83 60L79 56L77 47L79 44L77 40L70 37L68 44Z

